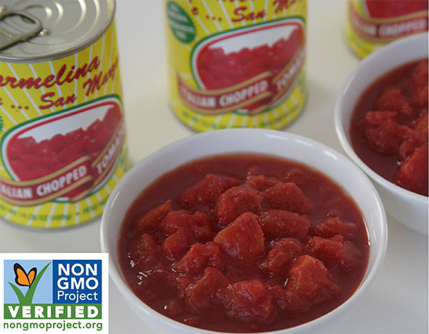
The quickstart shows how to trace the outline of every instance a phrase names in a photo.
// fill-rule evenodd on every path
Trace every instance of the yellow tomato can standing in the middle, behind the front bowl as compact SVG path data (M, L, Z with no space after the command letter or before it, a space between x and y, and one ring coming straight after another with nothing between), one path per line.
M164 0L169 103L196 131L280 129L305 104L306 0Z

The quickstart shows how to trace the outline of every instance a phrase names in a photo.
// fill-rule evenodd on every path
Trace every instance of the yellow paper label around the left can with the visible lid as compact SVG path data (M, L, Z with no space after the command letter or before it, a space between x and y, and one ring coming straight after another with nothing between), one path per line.
M0 66L0 216L59 228L102 214L129 168L114 22L68 57Z

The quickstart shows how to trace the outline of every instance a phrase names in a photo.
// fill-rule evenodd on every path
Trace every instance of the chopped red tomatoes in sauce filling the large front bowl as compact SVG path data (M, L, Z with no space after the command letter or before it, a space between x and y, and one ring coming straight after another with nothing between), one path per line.
M129 208L118 243L126 281L178 322L274 331L333 310L368 266L363 217L323 174L235 154L182 165Z

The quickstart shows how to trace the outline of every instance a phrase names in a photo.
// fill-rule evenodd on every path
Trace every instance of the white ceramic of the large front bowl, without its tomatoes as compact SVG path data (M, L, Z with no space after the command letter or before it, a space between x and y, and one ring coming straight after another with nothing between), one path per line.
M368 270L359 288L344 304L323 317L287 330L270 332L320 333L324 325L332 326L332 322L339 320L340 313L356 304L374 280L385 255L387 220L376 189L356 165L330 147L301 136L263 129L217 130L173 142L141 160L115 187L102 216L100 239L102 251L109 253L111 277L131 308L148 326L155 329L155 333L213 333L175 322L138 299L122 275L117 260L117 242L128 207L153 180L196 158L234 152L270 154L314 167L341 185L361 209L371 247Z

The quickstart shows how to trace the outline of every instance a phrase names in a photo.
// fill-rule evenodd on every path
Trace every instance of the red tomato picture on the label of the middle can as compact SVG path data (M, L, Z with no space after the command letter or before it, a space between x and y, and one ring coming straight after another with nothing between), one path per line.
M261 106L267 107L285 96L298 71L292 68L293 75L287 77L288 83L281 89L276 82L289 67L294 67L294 60L304 44L303 21L299 19L282 19L227 31L204 39L196 46L191 58L193 74L200 89L213 92L213 95L231 93L223 98L227 101L223 104L234 102L240 106L240 111L255 113L263 110ZM299 59L295 67L301 68L302 64L303 59ZM258 76L269 78L270 96L258 99L254 92L259 88L257 85L250 86L249 91L249 83L257 83ZM228 99L232 102L228 103Z

